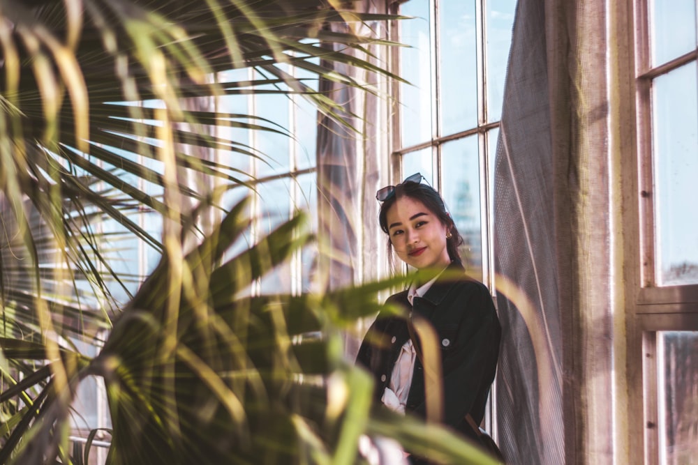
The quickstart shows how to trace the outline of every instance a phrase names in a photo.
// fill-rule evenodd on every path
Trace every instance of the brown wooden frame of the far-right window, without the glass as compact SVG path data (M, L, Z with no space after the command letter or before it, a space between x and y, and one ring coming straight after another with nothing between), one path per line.
M624 188L630 212L624 220L630 230L625 245L625 298L627 317L628 440L630 463L659 464L660 431L657 366L658 331L698 330L698 284L658 287L655 282L655 209L653 181L652 84L653 79L697 61L692 52L666 63L651 63L651 0L629 0L625 16L630 31L630 83L634 99L634 156L626 158L625 173L634 181ZM623 7L621 7L623 8ZM622 24L621 11L617 17ZM622 18L622 19L621 19ZM620 26L619 26L620 27ZM622 47L621 47L622 48ZM622 53L622 52L621 52ZM632 118L632 117L631 117ZM630 166L632 163L632 166ZM632 195L630 190L632 189ZM636 232L637 231L637 232ZM641 447L637 444L641 443Z

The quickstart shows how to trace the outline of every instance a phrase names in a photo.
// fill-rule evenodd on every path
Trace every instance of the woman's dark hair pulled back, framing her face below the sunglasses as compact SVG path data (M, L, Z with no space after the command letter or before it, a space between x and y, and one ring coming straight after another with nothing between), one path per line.
M451 261L456 261L461 264L461 254L458 252L459 245L463 244L463 237L458 232L456 224L454 224L451 215L446 211L446 206L443 199L431 185L426 185L422 183L414 183L408 181L401 183L396 186L394 195L385 199L383 204L380 205L380 212L378 213L378 224L380 224L380 229L383 229L385 234L389 234L388 224L387 224L387 213L399 197L410 197L410 199L422 202L426 208L436 215L436 218L446 227L446 231L451 233L451 237L446 239L446 250L448 250L448 257ZM388 236L388 254L392 255L392 242Z

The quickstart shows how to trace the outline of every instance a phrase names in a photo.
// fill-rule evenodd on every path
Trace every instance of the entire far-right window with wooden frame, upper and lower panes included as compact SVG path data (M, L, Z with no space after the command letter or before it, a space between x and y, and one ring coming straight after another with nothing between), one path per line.
M637 0L635 21L640 235L628 360L630 392L642 392L630 402L644 409L630 422L643 430L645 463L681 464L698 453L697 3Z

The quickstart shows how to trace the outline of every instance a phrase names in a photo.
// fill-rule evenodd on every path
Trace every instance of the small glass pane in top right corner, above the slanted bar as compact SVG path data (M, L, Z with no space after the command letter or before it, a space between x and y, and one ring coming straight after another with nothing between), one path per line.
M653 66L696 49L695 0L654 0L649 8Z

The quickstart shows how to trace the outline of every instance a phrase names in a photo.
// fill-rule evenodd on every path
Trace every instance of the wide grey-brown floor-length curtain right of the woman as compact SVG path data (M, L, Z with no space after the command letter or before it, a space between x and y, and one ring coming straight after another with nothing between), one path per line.
M519 0L495 169L511 464L612 463L604 1Z

